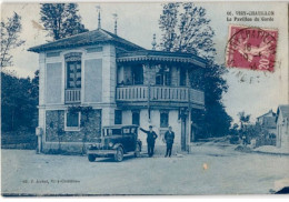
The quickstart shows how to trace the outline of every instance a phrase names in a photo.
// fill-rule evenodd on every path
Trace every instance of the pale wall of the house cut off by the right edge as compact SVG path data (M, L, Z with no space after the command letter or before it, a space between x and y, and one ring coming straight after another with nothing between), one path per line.
M277 147L289 151L289 104L278 107L276 122Z

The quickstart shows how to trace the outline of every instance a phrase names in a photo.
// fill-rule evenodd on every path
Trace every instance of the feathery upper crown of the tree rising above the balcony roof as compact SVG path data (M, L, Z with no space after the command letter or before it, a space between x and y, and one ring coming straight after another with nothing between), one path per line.
M209 23L202 7L191 2L166 3L159 20L162 31L160 46L166 51L190 52L212 60L216 55L215 32Z

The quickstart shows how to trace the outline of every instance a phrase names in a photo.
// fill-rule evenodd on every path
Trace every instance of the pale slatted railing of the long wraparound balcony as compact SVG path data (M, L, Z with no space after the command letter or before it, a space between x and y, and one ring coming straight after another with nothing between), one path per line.
M170 101L205 104L202 91L186 87L118 87L116 99L121 102Z

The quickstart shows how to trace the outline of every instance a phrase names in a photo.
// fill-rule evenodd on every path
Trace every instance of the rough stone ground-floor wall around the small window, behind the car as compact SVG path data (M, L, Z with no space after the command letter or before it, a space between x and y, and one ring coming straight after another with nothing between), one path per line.
M81 115L81 121L86 117ZM63 131L63 133L59 133ZM87 134L87 137L84 137ZM58 142L93 142L101 134L101 110L93 110L89 114L89 121L80 131L64 131L64 111L51 110L46 112L46 141Z

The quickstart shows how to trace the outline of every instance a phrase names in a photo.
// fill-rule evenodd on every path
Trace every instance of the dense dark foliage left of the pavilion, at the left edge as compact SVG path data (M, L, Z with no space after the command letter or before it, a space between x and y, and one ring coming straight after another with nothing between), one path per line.
M34 78L1 72L2 131L34 131L38 122L38 71Z

